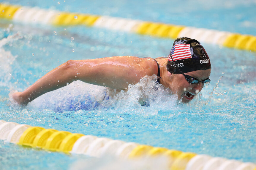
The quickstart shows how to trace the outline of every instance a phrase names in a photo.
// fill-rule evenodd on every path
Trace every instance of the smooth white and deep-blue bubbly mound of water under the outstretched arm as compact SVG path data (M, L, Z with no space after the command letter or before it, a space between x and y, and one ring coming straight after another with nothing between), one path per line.
M93 110L105 97L104 89L102 86L75 81L36 98L28 107L37 110L47 108L56 112Z

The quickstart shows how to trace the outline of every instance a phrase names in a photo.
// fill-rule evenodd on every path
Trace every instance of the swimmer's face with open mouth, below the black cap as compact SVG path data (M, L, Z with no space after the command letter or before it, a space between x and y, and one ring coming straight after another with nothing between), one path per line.
M185 75L196 78L197 80L205 80L211 74L211 69L207 70L197 70L193 72L187 72ZM186 78L182 74L171 74L171 83L169 88L173 93L178 95L178 100L181 100L183 103L190 102L194 96L199 93L202 88L202 82L189 84Z

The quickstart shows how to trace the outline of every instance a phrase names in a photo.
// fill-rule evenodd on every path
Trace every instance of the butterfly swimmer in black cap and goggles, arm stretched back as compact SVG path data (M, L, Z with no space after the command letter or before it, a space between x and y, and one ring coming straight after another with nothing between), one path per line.
M12 94L20 105L73 81L126 90L145 75L157 75L157 82L169 88L178 100L188 103L210 82L211 63L203 46L195 39L177 38L168 57L138 58L116 56L69 60L48 72L23 92Z

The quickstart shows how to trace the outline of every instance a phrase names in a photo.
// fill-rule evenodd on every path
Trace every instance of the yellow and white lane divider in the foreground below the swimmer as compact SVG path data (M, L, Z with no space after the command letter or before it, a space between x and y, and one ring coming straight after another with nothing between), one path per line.
M171 170L256 170L256 164L0 120L0 139L25 147L127 159L167 158Z

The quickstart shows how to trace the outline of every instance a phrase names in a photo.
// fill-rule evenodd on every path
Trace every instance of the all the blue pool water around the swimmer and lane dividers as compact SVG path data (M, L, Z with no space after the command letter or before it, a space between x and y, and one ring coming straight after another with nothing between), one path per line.
M9 2L256 35L254 1L217 5L203 1L185 1L186 5L165 1L141 1L140 5L135 1ZM179 15L181 7L187 9L184 15ZM225 17L221 17L223 13ZM179 104L176 96L161 87L152 91L154 77L145 77L128 92L104 100L102 105L98 101L104 97L105 88L77 81L19 107L9 100L10 92L24 90L69 59L120 55L156 58L169 54L173 40L99 28L39 27L4 20L0 20L0 39L2 120L256 163L253 52L203 44L211 59L211 83L189 104ZM149 107L138 104L142 93L149 93ZM80 159L87 161L88 167L101 164L88 163L91 158L87 156L49 153L0 141L0 166L5 169L69 169L81 164L77 162ZM124 164L132 169L129 163Z

